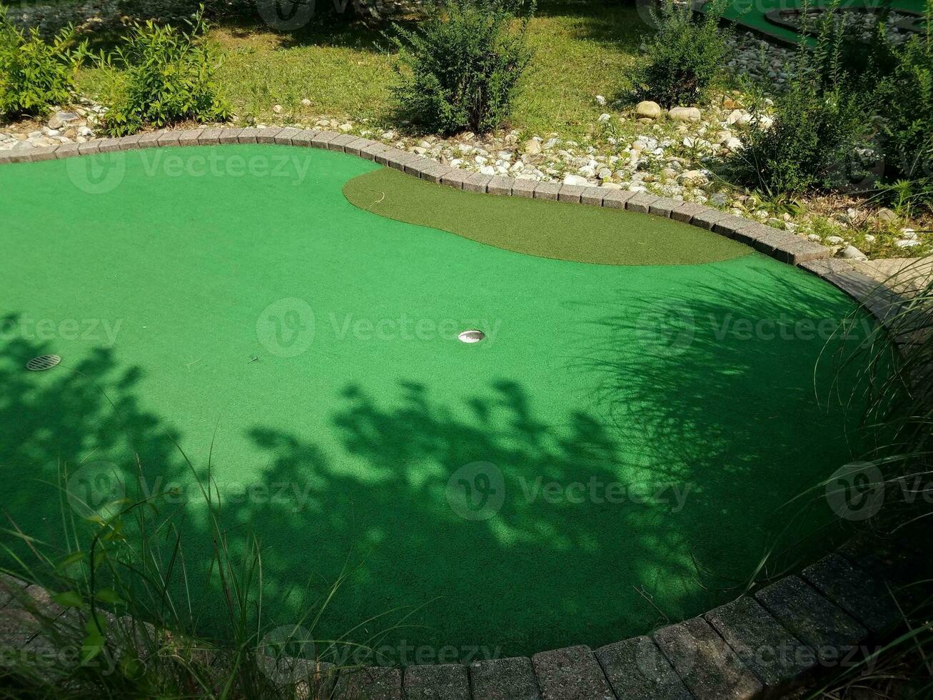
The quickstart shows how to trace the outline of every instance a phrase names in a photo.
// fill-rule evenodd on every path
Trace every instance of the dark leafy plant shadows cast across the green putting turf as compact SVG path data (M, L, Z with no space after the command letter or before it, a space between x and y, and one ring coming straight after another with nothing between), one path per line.
M265 624L303 619L302 609L349 570L320 634L336 637L390 613L355 632L356 641L379 642L384 663L442 661L443 648L453 650L447 660L468 661L470 654L595 647L738 595L775 539L790 549L788 562L825 549L825 507L817 504L783 537L781 529L790 519L787 500L859 451L855 434L849 443L833 439L836 404L851 397L849 378L832 368L839 337L785 340L753 330L746 339L736 319L754 327L783 313L795 327L826 319L829 328L852 307L829 287L801 292L782 280L774 280L786 292L780 297L732 284L723 273L704 290L620 299L639 313L604 311L598 321L617 340L564 358L569 371L594 371L603 382L588 401L568 398L563 425L542 423L527 390L513 381L465 392L468 418L418 381L399 383L391 405L360 381L327 399L332 429L366 466L354 469L336 463L313 434L258 420L247 430L268 455L267 488L225 502L223 523L234 545L250 532L262 542ZM582 325L569 332L584 344L592 337ZM806 351L789 352L789 343ZM16 475L5 480L2 505L39 530L29 534L62 547L51 504L63 465L118 463L129 483L138 457L151 490L157 480L189 486L177 446L192 436L146 411L137 395L142 371L121 365L112 349L52 374L22 371L47 350L7 335L0 352L0 444L5 469ZM846 344L842 352L850 350ZM829 366L814 374L821 351ZM773 419L776 401L796 408L792 426ZM634 443L648 449L633 454L627 447ZM203 472L203 455L194 461ZM452 506L452 477L477 462L494 465L487 476L501 475L504 489L488 519L465 518ZM593 481L679 484L687 498L678 506L670 492L659 499L627 491L609 502L602 491L599 502L586 490ZM546 483L558 484L557 498L543 496ZM578 490L567 489L577 483L584 484L583 503ZM273 497L275 484L289 484L301 498ZM218 490L229 495L228 486ZM188 500L174 510L184 523L190 575L206 577L212 545L203 503L183 490ZM36 517L45 507L48 515ZM802 546L790 547L798 539ZM216 605L216 582L207 590L196 609ZM209 616L200 623L223 637Z

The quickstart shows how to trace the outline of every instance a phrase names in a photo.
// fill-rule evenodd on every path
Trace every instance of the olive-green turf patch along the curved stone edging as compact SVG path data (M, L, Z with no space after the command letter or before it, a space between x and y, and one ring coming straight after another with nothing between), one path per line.
M606 265L689 265L751 253L746 245L671 219L466 192L391 168L353 178L343 194L373 214L541 258Z

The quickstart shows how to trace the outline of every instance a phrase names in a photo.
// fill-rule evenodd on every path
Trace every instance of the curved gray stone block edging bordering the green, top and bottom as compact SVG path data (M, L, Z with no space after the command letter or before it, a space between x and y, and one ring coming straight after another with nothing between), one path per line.
M712 207L646 192L581 187L557 182L480 175L442 165L378 141L294 127L201 128L106 138L84 144L23 148L0 153L5 162L49 161L72 156L165 146L278 144L338 150L456 189L500 196L627 209L670 217L715 231L775 259L797 265L842 289L885 327L901 298L851 265L830 258L829 248ZM896 343L898 338L893 339ZM313 679L322 697L371 700L629 700L630 698L773 697L843 654L891 629L898 608L885 583L897 569L884 556L853 543L804 568L691 620L650 636L597 650L586 646L542 651L470 665L368 667L353 671L294 660L296 679ZM909 571L903 572L909 576ZM901 584L907 579L897 581ZM36 587L38 588L38 587ZM28 590L28 588L27 588ZM41 590L41 589L39 589ZM14 596L0 586L0 634L20 615ZM12 606L12 608L10 607ZM35 633L37 634L37 633ZM17 637L18 642L20 641ZM24 639L21 643L28 643Z

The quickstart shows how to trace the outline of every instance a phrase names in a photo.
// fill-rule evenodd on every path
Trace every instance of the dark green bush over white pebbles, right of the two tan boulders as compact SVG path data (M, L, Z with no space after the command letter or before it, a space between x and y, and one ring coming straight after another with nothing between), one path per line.
M865 174L856 151L867 131L864 106L858 95L795 82L775 101L773 121L752 119L745 147L725 164L727 178L769 196L846 188Z

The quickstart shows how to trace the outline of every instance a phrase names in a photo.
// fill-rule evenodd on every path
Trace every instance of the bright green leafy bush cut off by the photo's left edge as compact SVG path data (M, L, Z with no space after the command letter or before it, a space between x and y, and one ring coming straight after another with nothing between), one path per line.
M41 116L70 100L78 55L71 50L73 37L71 28L49 42L35 29L24 33L0 6L0 116Z

